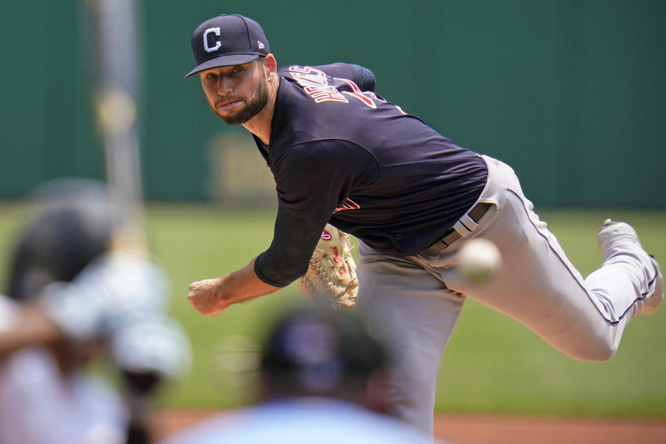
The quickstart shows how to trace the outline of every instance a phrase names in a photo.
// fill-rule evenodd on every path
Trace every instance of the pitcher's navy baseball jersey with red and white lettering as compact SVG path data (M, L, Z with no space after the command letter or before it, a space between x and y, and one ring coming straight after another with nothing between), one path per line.
M367 69L336 63L278 69L268 146L275 237L255 262L278 287L307 271L330 222L388 255L418 254L475 203L486 164L375 94Z

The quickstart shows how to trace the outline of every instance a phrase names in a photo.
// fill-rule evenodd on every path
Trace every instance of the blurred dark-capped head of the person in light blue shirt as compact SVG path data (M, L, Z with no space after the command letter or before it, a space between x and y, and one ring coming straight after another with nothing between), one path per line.
M262 398L326 396L388 413L386 350L347 313L323 306L276 323L262 355Z

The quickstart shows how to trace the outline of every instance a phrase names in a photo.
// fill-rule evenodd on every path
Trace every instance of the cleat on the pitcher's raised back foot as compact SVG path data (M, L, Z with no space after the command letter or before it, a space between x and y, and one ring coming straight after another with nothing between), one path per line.
M606 219L604 221L604 227L597 233L597 244L599 245L599 248L601 248L601 253L603 253L604 259L608 259L608 257L614 253L613 247L621 248L621 246L617 245L611 246L612 243L622 244L622 242L635 244L643 250L640 241L638 240L636 230L634 230L629 223L615 222L611 219ZM647 253L645 254L647 255ZM654 275L654 278L648 282L648 288L653 291L645 295L641 314L653 314L664 300L664 275L654 256L648 255L648 257L654 267L654 272L651 273Z

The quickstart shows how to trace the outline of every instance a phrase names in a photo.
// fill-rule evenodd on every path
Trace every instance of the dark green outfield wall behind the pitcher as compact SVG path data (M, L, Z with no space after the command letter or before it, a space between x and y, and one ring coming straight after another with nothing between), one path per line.
M0 198L104 176L92 3L3 2ZM666 1L144 0L138 10L149 200L274 200L249 137L183 78L191 32L226 12L262 23L280 65L373 69L379 94L509 162L539 205L666 207Z

